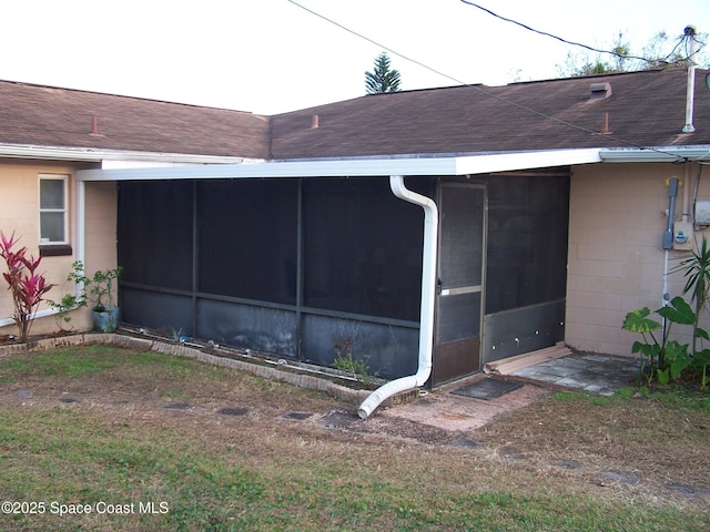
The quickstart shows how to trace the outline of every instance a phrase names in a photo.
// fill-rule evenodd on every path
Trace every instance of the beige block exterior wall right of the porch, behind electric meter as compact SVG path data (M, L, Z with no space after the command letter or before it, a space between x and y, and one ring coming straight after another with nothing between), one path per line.
M660 308L666 290L670 297L682 295L682 274L665 275L689 253L673 249L666 254L662 248L667 181L671 176L682 181L676 205L680 221L692 208L697 170L659 163L574 168L565 332L569 346L630 355L640 337L621 329L626 314L643 306ZM698 197L703 194L710 197L710 183L703 186L701 182ZM696 238L702 235L696 232Z

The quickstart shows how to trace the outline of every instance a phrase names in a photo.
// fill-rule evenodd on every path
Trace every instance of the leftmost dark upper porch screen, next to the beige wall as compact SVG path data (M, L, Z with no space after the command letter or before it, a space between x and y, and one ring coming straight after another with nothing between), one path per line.
M122 280L192 288L193 182L119 185L119 264Z

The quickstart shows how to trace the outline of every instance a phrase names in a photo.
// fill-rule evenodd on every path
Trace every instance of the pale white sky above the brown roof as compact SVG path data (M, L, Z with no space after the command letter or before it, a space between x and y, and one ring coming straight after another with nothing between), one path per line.
M0 80L277 114L364 95L387 50L403 90L559 78L587 53L460 0L297 0L352 32L295 1L6 0ZM635 54L710 32L708 0L471 1L592 48L621 32Z

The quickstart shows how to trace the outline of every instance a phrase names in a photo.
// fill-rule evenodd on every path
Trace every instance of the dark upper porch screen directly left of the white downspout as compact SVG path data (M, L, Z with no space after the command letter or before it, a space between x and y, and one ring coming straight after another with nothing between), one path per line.
M304 181L304 303L416 320L422 285L422 207L389 181Z

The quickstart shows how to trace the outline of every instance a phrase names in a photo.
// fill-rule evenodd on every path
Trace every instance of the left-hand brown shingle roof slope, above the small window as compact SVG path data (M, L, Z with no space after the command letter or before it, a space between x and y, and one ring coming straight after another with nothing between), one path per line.
M267 158L268 117L0 81L0 142Z

